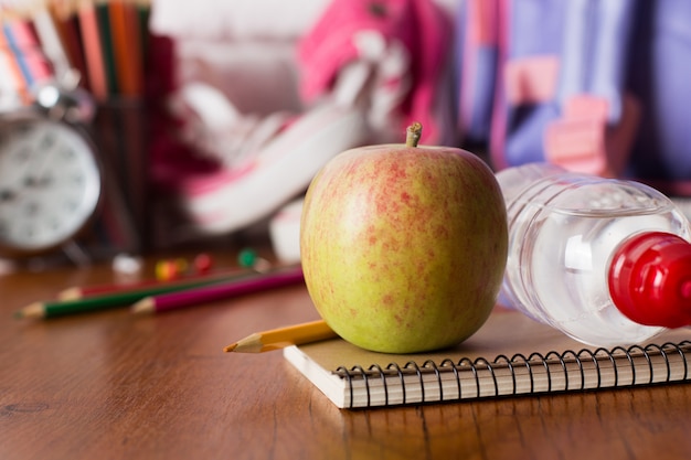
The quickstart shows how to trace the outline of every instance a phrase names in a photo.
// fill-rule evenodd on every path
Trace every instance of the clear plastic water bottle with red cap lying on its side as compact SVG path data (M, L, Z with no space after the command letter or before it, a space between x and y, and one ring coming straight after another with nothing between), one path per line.
M497 179L510 239L502 301L596 346L691 324L691 226L667 196L546 163Z

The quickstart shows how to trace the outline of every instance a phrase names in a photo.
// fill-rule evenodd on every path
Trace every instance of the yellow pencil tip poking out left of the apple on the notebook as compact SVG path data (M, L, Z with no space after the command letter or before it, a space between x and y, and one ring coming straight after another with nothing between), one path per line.
M336 332L323 320L318 320L270 331L255 332L238 342L227 345L223 351L226 353L263 353L336 336L338 336Z

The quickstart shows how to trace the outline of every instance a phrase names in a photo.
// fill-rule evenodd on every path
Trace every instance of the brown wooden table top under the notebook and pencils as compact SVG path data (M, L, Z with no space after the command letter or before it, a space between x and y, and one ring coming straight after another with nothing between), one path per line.
M0 459L688 459L691 385L339 410L280 353L224 354L317 318L304 287L150 317L18 308L107 266L0 277Z

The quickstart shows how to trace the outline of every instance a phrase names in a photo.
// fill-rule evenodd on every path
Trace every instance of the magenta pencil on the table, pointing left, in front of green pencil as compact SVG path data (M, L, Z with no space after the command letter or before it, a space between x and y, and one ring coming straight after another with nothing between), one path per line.
M170 295L147 297L132 306L134 313L157 313L199 303L225 300L245 293L304 282L301 267L277 269L236 281L188 289Z

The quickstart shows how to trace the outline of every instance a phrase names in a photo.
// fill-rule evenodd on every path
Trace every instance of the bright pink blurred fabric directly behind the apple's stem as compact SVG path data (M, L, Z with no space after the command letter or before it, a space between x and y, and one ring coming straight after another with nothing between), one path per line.
M440 78L453 28L448 15L429 0L333 0L299 44L304 98L312 101L328 95L341 68L365 58L353 39L366 31L380 33L387 45L398 42L407 51L408 65L401 77L410 77L411 87L398 107L402 121L422 122L424 142L438 142L444 128L434 106L437 92L444 89ZM398 83L389 78L389 85Z

